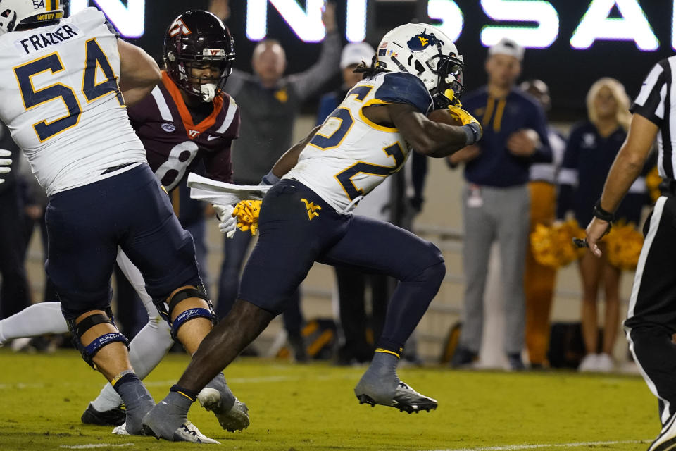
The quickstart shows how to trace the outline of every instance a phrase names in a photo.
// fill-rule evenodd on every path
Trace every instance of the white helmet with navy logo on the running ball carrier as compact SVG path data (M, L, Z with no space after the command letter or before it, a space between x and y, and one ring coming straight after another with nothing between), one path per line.
M387 32L377 49L377 67L408 72L420 78L435 102L452 89L460 97L463 56L444 33L426 23L407 23Z

